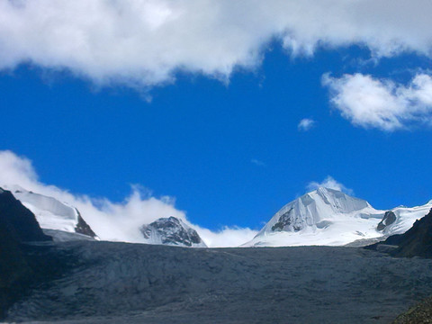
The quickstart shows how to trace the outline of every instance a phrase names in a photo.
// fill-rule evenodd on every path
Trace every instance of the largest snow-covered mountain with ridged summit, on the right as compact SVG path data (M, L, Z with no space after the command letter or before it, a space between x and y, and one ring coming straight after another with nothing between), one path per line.
M320 187L284 205L244 246L342 246L358 239L387 237L410 229L431 207L428 202L380 211L365 200Z

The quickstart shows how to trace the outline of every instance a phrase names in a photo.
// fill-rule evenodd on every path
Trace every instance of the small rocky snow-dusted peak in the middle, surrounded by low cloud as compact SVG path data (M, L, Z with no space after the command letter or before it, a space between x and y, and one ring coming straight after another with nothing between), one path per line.
M195 229L175 217L160 218L140 228L148 244L181 247L207 247Z

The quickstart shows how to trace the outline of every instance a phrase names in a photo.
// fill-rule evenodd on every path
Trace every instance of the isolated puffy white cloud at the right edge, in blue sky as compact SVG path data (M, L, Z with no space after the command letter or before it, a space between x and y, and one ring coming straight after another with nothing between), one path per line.
M432 78L415 76L409 85L362 74L323 76L330 101L353 124L365 128L400 130L432 117Z

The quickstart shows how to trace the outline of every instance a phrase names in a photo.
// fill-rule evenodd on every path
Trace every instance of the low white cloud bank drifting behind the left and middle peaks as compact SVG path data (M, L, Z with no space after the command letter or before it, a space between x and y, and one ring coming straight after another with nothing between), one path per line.
M191 224L184 211L175 208L171 197L157 198L139 185L123 202L111 202L106 198L92 198L85 194L69 193L55 185L43 184L31 165L31 160L19 157L12 151L0 151L0 186L20 185L34 193L48 195L76 207L94 232L104 240L142 242L139 227L161 217L174 216L197 229L209 247L234 247L253 238L257 231L240 228L224 228L211 231Z

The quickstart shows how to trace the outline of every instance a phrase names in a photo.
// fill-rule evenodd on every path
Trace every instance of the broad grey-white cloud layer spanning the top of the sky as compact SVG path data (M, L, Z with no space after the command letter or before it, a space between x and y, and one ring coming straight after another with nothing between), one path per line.
M429 0L0 0L0 68L25 62L98 85L172 82L184 70L226 79L281 41L374 56L431 54Z

